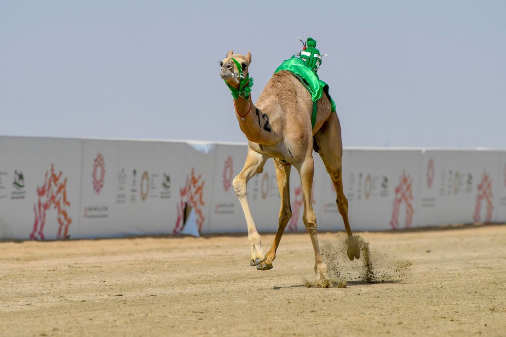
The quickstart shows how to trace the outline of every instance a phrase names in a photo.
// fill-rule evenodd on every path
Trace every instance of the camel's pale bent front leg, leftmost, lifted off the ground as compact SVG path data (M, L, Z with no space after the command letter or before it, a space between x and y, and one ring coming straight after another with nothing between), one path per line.
M244 217L246 218L246 226L248 228L248 242L251 247L251 266L257 266L259 263L265 260L266 254L262 249L262 239L257 232L253 217L249 210L248 200L246 197L246 184L253 178L257 173L262 173L264 169L265 161L267 156L257 153L248 147L248 153L244 167L241 173L239 173L233 181L234 191L239 202L241 203Z

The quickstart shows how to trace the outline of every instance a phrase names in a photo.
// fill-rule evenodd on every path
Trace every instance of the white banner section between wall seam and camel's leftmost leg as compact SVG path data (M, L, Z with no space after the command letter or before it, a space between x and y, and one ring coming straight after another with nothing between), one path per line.
M234 177L242 170L246 151L246 145L218 144L216 146L216 168L212 181L213 198L211 200L209 232L247 232L244 213L232 186Z

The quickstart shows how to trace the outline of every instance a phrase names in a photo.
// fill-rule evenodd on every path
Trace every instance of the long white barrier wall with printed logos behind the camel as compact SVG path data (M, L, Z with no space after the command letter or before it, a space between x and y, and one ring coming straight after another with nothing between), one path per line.
M0 239L178 234L184 210L200 233L245 233L232 180L245 144L0 137ZM320 230L343 230L318 154L313 207ZM354 230L506 221L506 151L348 148L343 184ZM272 159L247 186L259 231L275 232L280 196ZM304 231L299 174L292 219Z

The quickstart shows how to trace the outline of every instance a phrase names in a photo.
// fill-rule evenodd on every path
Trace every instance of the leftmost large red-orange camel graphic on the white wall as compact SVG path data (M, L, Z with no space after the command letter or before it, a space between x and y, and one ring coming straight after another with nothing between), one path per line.
M49 178L48 178L49 175ZM67 178L62 179L62 172L56 174L54 164L51 164L51 173L46 171L45 182L37 187L38 200L33 205L35 221L30 233L32 240L44 240L44 226L46 225L46 212L49 208L58 212L57 239L68 238L68 227L72 219L68 215L70 202L67 200Z

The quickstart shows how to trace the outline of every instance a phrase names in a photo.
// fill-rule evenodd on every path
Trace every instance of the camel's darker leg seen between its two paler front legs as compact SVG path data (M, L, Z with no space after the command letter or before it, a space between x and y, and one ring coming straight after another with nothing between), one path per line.
M279 195L281 196L281 208L279 209L278 231L274 237L271 249L267 252L267 257L264 262L257 266L258 270L272 269L272 261L276 258L276 250L278 249L279 241L286 228L286 224L291 218L290 207L290 170L291 165L283 165L279 159L274 159L276 166L276 180L278 182Z

